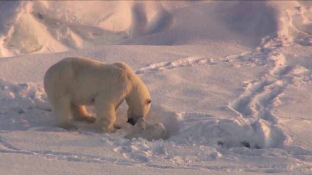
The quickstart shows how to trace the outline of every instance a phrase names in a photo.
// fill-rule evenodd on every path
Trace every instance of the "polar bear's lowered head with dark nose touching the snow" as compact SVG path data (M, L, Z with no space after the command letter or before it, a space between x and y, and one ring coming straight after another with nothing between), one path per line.
M152 103L150 93L142 81L134 86L132 92L126 98L126 102L129 106L127 123L135 125L138 119L145 117Z

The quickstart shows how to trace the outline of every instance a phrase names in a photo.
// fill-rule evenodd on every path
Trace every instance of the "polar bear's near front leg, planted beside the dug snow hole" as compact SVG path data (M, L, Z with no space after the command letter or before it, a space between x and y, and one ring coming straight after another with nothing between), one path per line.
M102 100L96 100L95 106L98 122L103 125L102 130L106 133L114 132L114 123L116 121L116 106Z

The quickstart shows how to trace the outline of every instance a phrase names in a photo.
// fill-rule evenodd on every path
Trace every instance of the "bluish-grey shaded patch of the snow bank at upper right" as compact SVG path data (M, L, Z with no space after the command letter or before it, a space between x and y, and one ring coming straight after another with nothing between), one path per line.
M220 8L219 18L227 29L256 39L277 31L276 13L267 1L236 1Z

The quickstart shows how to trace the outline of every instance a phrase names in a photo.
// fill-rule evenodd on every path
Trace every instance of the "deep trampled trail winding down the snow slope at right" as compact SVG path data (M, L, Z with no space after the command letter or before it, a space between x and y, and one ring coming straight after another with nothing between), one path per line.
M255 57L263 58L261 61ZM250 123L254 130L252 137L246 137L241 140L244 143L253 143L253 137L263 138L264 147L278 147L283 144L288 136L276 126L278 117L271 113L271 110L280 103L279 96L283 94L288 85L288 75L292 72L293 66L285 65L285 59L282 55L273 51L268 53L250 53L235 58L254 64L263 62L269 65L269 70L265 72L262 78L251 80L246 83L244 92L234 101L230 102L228 107L239 114L246 123ZM263 65L262 63L259 65ZM257 148L259 143L255 144ZM260 146L261 147L261 146Z

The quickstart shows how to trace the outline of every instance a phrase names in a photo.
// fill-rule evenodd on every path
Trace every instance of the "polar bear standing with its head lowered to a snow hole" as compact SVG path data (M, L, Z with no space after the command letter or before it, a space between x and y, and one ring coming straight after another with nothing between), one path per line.
M128 121L135 125L151 106L151 96L142 80L126 64L99 62L90 58L68 57L51 66L44 75L44 89L58 125L77 129L74 120L101 123L107 133L116 128L116 110L126 100ZM97 118L85 105L95 105Z

